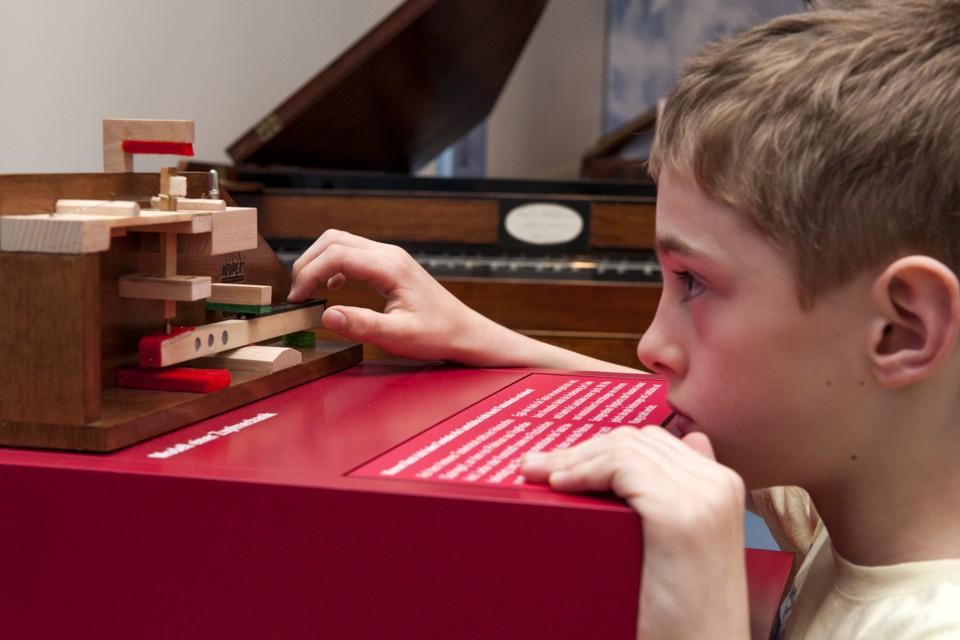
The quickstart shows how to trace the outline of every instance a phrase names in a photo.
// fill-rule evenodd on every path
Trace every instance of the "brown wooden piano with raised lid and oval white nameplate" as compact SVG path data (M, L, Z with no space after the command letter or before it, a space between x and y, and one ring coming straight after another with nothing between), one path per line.
M408 0L233 143L223 180L288 264L328 228L399 244L488 317L635 366L652 185L415 175L488 115L545 4ZM329 298L383 306L359 283Z

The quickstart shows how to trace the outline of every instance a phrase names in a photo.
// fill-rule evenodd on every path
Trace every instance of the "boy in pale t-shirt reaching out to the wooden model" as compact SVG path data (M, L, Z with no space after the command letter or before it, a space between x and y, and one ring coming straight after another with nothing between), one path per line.
M747 637L745 488L802 560L782 637L960 637L958 122L957 0L818 8L690 61L651 153L666 275L638 348L676 418L523 467L643 518L638 637ZM297 262L291 299L346 277L387 298L383 314L327 311L351 339L616 370L342 232Z

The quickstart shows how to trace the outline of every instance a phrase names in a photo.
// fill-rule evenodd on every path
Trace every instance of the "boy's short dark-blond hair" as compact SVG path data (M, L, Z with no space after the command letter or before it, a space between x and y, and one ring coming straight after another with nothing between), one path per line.
M650 157L796 260L800 299L922 253L960 273L960 0L834 3L708 45Z

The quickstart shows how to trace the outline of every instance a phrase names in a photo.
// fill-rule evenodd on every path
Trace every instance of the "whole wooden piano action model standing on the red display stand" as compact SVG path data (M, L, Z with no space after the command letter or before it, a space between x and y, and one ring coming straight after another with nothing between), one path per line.
M346 368L189 121L104 121L103 174L0 176L0 445L111 451ZM120 173L118 173L119 171ZM296 338L296 339L293 339ZM298 346L288 346L298 345Z

